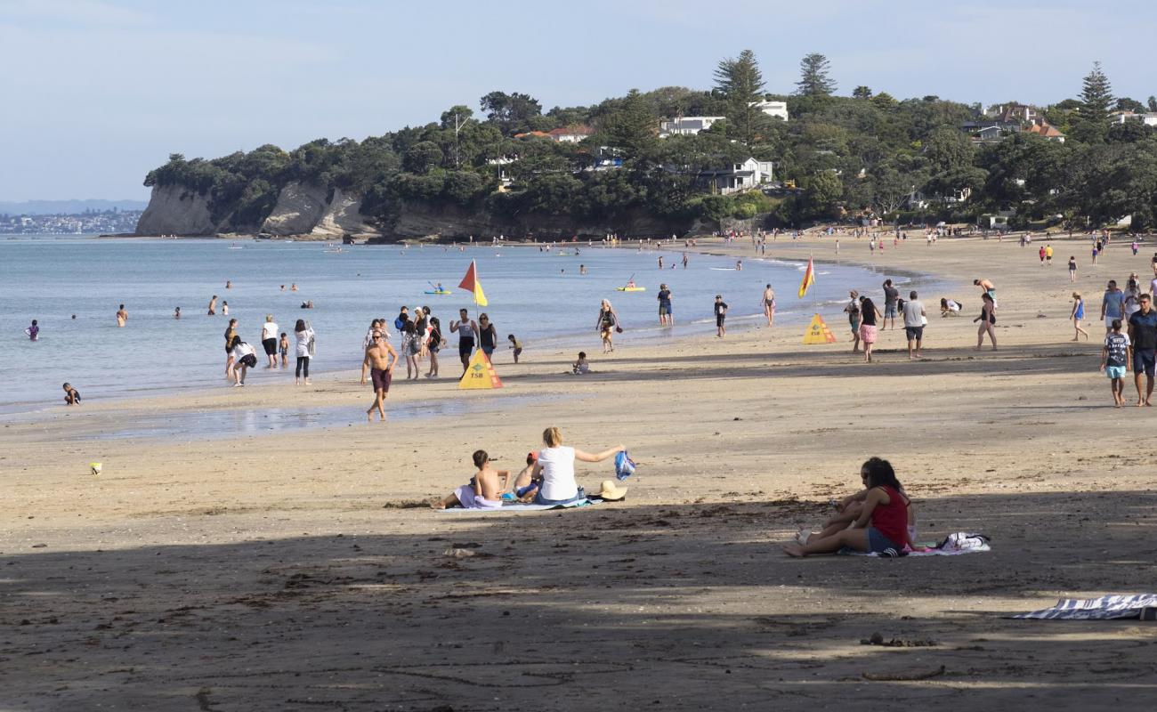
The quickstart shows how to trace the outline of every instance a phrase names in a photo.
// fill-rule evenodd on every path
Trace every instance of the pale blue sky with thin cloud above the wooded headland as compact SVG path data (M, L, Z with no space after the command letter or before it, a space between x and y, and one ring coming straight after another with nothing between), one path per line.
M0 200L146 198L170 153L360 140L494 89L709 88L743 49L773 93L820 52L845 95L1051 103L1100 60L1144 102L1155 21L1142 0L0 0Z

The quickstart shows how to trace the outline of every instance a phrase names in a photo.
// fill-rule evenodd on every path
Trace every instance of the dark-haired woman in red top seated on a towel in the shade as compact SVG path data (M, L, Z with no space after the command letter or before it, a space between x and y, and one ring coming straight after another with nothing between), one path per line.
M798 543L783 546L783 551L801 557L834 553L843 546L871 553L915 549L915 520L909 520L912 500L904 493L892 464L872 457L861 465L860 478L864 489L839 502L839 513L823 531L806 536L801 531L796 535Z

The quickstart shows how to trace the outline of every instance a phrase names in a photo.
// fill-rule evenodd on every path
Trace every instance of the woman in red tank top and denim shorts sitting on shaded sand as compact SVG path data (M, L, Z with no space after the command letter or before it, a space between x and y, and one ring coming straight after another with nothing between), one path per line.
M867 496L856 521L830 536L813 536L806 544L788 544L783 546L784 552L798 557L832 553L843 546L876 553L904 548L908 541L908 500L892 464L872 457L861 467L860 475Z

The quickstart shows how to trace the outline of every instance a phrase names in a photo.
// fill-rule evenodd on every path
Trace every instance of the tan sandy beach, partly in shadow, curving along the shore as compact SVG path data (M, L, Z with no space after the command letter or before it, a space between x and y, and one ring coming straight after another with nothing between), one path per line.
M953 285L921 294L920 361L901 322L864 364L833 310L839 343L820 346L797 325L736 323L722 340L677 325L642 345L628 330L604 358L591 331L584 377L567 373L569 351L528 348L516 367L500 350L506 388L398 377L388 413L469 409L385 425L364 424L371 392L353 368L309 388L94 401L5 423L0 709L1151 709L1154 623L1001 616L1155 589L1157 416L1132 408L1132 374L1130 406L1112 406L1095 318L1108 279L1148 284L1154 245L1134 257L1117 238L1090 265L1086 238L1057 240L1046 267L1039 237L909 237L872 256L842 236L839 257L880 270L847 285L880 308L889 270ZM700 249L753 258L742 240ZM809 254L837 258L830 237L767 244L767 257ZM996 352L973 350L974 278L997 287ZM797 286L775 285L779 300ZM1070 340L1074 287L1088 343ZM964 315L942 318L942 296ZM578 321L596 310L592 296ZM443 375L457 373L443 353ZM307 406L349 409L351 423L89 439L171 413ZM627 499L428 508L469 479L472 450L516 470L550 425L588 450L627 446L640 463ZM979 531L993 551L784 556L872 455L896 467L921 541ZM606 463L578 470L588 491L609 478ZM862 643L875 633L894 645Z

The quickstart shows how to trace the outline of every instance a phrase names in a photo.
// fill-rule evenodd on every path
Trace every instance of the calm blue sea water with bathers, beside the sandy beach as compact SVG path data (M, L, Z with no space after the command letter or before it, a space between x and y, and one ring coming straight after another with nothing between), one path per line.
M626 355L642 339L714 330L715 294L730 306L729 328L743 328L759 323L764 285L771 282L778 295L776 325L802 332L817 306L826 304L838 315L848 288L875 293L883 281L870 270L825 264L817 267L806 299L799 300L802 262L744 257L743 270L735 271L735 257L690 254L690 266L683 269L678 247L640 252L580 244L578 255L574 245L567 255L557 248L489 244L464 251L443 245L334 249L318 242L253 240L0 240L0 411L62 403L65 381L87 401L223 388L223 333L230 317L238 320L238 333L258 353L258 368L250 369L246 383L261 384L293 379L299 318L317 333L310 365L316 374L359 368L362 339L375 317L386 320L397 347L392 324L399 307L406 304L413 314L415 307L429 306L449 340L441 354L442 373L452 377L459 373L458 339L449 326L460 307L470 309L471 318L480 311L489 315L498 329L495 362L509 368L508 333L522 342L528 360L563 347L568 358L580 348L599 353L596 321L602 299L610 299L621 318L625 332L616 337L616 352ZM659 255L668 267L662 271ZM489 300L485 308L457 288L472 259ZM672 263L675 270L669 269ZM580 265L587 274L580 274ZM632 277L647 291L614 289ZM227 280L233 282L229 289ZM661 282L673 295L673 329L658 326ZM296 292L290 291L293 284ZM452 293L425 294L434 284ZM208 316L214 294L218 314ZM222 314L226 301L229 316ZM314 302L312 309L301 308L307 301ZM115 315L121 303L128 322L118 328ZM172 316L176 307L180 320ZM286 370L263 368L266 314L273 315L279 332L289 335ZM35 343L24 333L34 318L40 328Z

